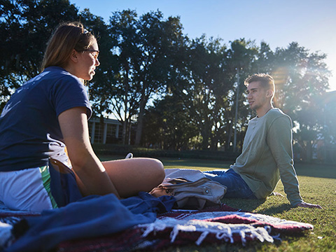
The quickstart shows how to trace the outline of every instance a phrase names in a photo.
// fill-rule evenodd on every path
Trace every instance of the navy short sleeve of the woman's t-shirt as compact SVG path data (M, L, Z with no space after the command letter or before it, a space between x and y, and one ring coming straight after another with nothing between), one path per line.
M87 118L92 115L90 101L85 86L73 76L63 76L50 90L50 101L55 108L56 115L78 106L86 107Z

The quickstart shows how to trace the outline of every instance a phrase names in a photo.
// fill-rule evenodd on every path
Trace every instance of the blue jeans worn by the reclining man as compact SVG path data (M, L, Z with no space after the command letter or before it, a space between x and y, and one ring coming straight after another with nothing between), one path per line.
M224 197L253 200L257 199L252 190L247 186L244 179L241 179L241 176L233 169L228 169L226 172L224 170L214 170L203 173L207 176L207 178L228 187Z

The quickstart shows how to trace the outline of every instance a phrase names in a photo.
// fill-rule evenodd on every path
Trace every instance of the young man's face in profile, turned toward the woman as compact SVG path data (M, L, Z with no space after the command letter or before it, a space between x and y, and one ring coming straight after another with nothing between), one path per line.
M260 85L259 81L253 81L247 87L247 101L251 109L258 110L269 103L267 90Z

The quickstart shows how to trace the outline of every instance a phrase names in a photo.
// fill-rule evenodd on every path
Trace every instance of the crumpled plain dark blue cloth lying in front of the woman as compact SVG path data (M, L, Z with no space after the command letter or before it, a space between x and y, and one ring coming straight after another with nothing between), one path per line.
M156 198L148 193L125 200L112 194L85 197L66 207L43 211L41 216L25 218L27 232L6 251L45 251L61 241L111 235L134 225L153 223L156 215L170 211L174 202L174 197Z

